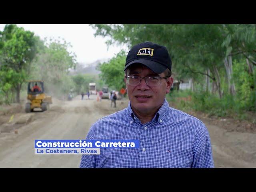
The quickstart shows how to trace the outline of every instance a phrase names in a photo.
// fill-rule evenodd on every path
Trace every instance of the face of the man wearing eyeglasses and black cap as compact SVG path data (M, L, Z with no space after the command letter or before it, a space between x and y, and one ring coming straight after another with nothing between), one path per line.
M127 70L127 76L164 77L165 74L156 74L148 67L140 65L136 67L130 67ZM142 79L140 84L137 86L128 85L126 78L125 82L132 108L140 112L149 113L152 110L160 108L160 106L164 102L165 95L170 92L173 79L172 77L169 77L167 79L162 78L158 86L148 86L146 84L145 78Z

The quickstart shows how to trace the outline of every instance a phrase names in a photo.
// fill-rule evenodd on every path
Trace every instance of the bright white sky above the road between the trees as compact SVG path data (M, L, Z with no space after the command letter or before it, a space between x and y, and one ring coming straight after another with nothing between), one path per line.
M0 30L5 24L0 24ZM72 51L76 54L79 63L89 64L96 60L112 58L122 48L128 51L127 46L109 46L105 44L106 38L94 37L94 29L89 24L17 24L25 30L30 30L43 40L45 37L64 38L70 42Z

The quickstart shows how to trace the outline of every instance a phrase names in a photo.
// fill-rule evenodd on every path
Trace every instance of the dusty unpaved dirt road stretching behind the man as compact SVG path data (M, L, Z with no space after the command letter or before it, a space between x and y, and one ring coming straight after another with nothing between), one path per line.
M15 114L9 122L12 129L0 134L0 167L79 167L81 155L35 155L34 140L84 139L96 120L128 104L128 100L118 100L117 108L110 108L109 100L96 102L95 96L90 97L91 100L81 100L80 96L72 101L55 99L46 112ZM227 132L212 125L208 119L201 120L210 132L215 167L256 167L256 134ZM2 130L3 126L0 125Z

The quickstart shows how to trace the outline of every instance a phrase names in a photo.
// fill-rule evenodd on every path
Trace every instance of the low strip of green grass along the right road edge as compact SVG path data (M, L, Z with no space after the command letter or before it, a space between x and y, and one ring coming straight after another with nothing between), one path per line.
M231 95L225 95L220 99L218 95L208 92L179 90L168 94L166 99L174 104L175 108L185 112L194 110L204 112L208 116L230 117L256 123L256 112L249 111L248 108L240 104L240 100Z

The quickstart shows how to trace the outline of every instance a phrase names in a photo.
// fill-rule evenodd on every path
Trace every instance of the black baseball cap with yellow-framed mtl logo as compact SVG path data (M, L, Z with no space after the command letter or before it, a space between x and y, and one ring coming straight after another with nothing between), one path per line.
M143 42L132 47L126 57L124 70L132 64L143 64L157 74L172 70L172 60L165 46Z

